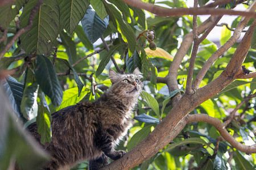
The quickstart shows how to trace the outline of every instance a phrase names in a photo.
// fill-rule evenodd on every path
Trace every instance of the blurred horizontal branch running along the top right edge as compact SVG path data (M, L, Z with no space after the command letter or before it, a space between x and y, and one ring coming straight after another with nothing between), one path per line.
M142 8L158 16L182 16L182 15L241 15L256 18L256 12L235 11L215 8L164 8L145 3L139 0L122 0L130 6Z

